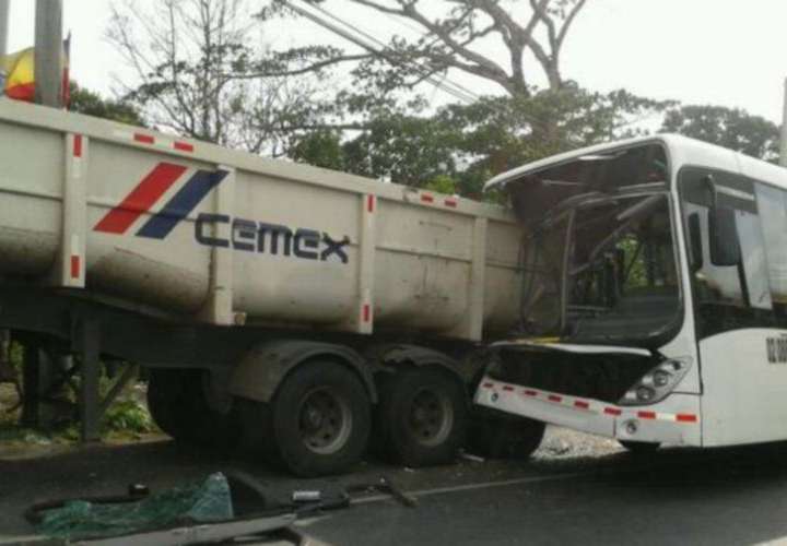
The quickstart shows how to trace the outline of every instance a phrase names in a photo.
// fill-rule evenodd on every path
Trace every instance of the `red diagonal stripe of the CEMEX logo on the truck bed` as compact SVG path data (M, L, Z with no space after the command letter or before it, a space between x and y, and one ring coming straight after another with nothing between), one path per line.
M125 233L185 171L186 167L181 165L160 163L131 190L131 193L126 195L126 199L124 199L120 204L109 211L93 229L108 234Z

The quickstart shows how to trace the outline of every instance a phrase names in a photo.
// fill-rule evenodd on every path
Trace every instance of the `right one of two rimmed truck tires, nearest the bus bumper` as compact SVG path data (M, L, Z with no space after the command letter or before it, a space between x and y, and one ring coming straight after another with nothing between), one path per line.
M465 443L468 402L458 378L434 367L384 375L378 382L375 449L410 467L454 462Z

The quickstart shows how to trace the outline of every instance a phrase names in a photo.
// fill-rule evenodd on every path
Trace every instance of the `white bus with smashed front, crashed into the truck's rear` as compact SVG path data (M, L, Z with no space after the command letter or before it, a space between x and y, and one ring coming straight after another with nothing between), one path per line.
M787 439L787 169L658 135L495 177L527 227L482 406L659 444ZM526 442L527 443L527 442Z

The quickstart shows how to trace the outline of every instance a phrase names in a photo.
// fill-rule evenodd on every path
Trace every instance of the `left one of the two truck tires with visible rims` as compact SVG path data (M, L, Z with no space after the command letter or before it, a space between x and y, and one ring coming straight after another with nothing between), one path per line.
M284 378L270 404L244 405L250 443L296 476L346 472L366 450L372 429L368 393L353 371L334 361L298 366Z

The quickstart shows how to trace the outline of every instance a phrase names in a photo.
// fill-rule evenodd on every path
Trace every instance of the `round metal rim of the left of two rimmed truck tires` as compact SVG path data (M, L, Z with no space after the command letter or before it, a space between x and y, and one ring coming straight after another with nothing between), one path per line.
M350 405L333 389L313 389L298 406L298 428L307 449L324 455L336 453L352 430Z

